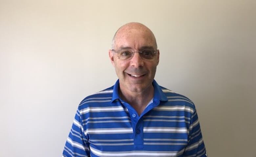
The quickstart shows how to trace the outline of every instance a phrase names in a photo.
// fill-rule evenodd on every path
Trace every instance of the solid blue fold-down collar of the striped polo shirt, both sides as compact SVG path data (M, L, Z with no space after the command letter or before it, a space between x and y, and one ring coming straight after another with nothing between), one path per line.
M162 91L162 88L157 84L156 80L153 80L152 82L154 86L154 101L167 101L167 97ZM114 102L117 99L120 99L119 94L118 94L118 88L119 88L119 79L117 80L116 84L114 85L113 88L113 95L112 95L112 100L111 102Z

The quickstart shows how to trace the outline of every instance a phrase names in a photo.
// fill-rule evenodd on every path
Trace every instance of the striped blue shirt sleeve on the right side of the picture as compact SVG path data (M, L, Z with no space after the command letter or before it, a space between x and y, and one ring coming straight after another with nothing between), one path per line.
M188 145L183 156L207 157L196 109L190 119Z

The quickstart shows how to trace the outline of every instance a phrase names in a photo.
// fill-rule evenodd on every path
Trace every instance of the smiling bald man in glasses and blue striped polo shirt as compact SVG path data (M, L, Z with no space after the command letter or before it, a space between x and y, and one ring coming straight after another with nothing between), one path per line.
M79 104L64 157L206 156L193 102L154 80L159 55L145 25L117 30L109 57L119 79Z

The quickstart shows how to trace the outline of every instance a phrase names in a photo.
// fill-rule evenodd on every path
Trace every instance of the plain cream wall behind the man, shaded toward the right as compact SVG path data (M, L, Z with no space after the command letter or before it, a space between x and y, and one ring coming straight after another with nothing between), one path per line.
M154 32L155 79L195 102L208 156L256 157L255 0L0 0L0 156L61 156L128 22Z

